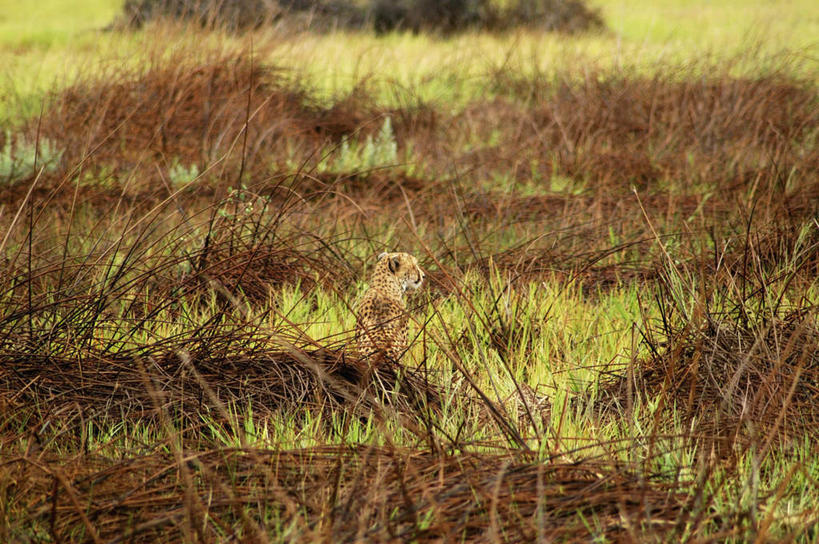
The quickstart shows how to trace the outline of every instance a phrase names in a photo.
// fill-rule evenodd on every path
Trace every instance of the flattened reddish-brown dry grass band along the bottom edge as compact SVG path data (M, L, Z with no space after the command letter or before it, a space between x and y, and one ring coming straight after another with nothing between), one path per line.
M483 542L500 535L504 542L635 541L668 537L685 519L681 483L605 463L514 455L221 449L127 461L22 457L9 468L20 476L10 490L12 508L28 515L6 531L54 539L214 541L286 531L312 542Z

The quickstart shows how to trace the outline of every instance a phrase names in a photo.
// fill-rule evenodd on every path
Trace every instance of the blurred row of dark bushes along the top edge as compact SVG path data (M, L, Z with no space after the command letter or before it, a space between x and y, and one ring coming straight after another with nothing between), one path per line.
M442 33L520 26L577 32L603 26L583 0L517 0L504 7L492 0L126 0L121 23L138 28L161 17L233 31L272 22L319 30Z

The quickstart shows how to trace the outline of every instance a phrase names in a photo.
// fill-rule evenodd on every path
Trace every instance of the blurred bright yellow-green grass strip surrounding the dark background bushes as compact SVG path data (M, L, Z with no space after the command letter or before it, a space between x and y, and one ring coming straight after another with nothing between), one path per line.
M114 0L43 0L33 7L0 3L0 88L12 98L0 120L22 108L37 112L38 96L78 75L105 74L112 66L139 66L157 50L195 44L247 51L248 37L202 33L170 25L138 32L102 32L119 11ZM261 60L292 68L312 87L332 95L346 92L362 77L384 81L384 100L395 85L415 96L461 102L486 93L484 77L499 67L521 74L553 73L573 65L637 66L649 72L708 56L732 61L738 73L776 68L783 53L804 59L792 69L816 77L819 8L810 0L728 3L600 1L608 30L567 37L540 32L486 35L474 32L440 39L409 33L376 38L337 32L291 38L269 30L252 35ZM161 25L160 25L161 26ZM182 31L184 30L184 31ZM203 47L204 45L204 47ZM788 62L793 62L792 58ZM14 103L17 102L17 104ZM17 110L15 110L15 106Z

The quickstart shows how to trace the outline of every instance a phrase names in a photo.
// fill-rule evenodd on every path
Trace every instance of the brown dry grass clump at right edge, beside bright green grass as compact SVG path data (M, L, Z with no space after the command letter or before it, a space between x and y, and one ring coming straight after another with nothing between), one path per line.
M819 329L815 318L794 315L754 330L713 316L677 331L629 377L611 381L601 402L621 409L630 391L661 399L694 438L720 454L772 442L798 445L819 439Z

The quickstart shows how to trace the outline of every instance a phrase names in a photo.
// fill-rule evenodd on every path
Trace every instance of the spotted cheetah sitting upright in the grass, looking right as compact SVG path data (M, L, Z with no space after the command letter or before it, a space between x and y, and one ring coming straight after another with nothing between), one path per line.
M359 355L376 366L386 357L392 361L409 344L409 315L404 302L407 289L418 289L424 272L409 253L382 253L370 278L370 287L356 305L356 342Z

